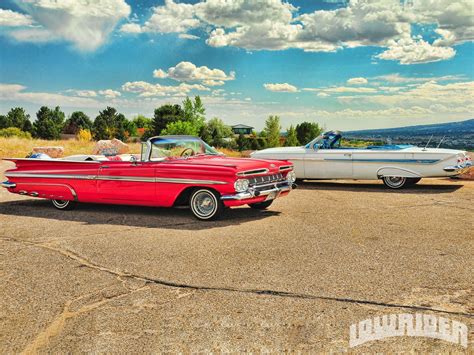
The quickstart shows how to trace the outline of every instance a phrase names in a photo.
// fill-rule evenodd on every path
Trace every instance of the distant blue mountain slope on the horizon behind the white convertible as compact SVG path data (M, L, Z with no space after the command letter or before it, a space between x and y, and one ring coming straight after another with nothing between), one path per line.
M413 137L413 136L458 136L474 134L474 119L437 123L421 126L408 126L398 128L367 129L362 131L344 132L346 137Z

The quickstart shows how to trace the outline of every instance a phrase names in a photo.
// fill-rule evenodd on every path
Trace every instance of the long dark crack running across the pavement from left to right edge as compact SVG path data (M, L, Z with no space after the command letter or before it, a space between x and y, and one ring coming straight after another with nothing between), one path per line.
M152 277L138 275L138 274L122 272L118 270L112 270L105 266L98 265L76 253L73 253L71 251L64 250L52 245L34 243L34 242L29 242L29 241L15 239L15 238L0 238L0 240L13 241L13 242L28 244L28 245L48 249L51 251L55 251L91 269L95 269L95 270L109 273L111 275L115 275L119 277L120 279L132 278L135 280L139 280L139 281L145 282L145 286L146 284L151 283L151 284L156 284L156 285L161 285L161 286L166 286L166 287L182 288L182 289L198 290L198 291L235 292L235 293L242 293L242 294L254 294L254 295L271 296L271 297L287 297L287 298L304 299L304 300L322 300L322 301L342 302L342 303L351 303L351 304L363 304L363 305L371 305L371 306L387 307L387 308L409 309L409 310L415 310L415 311L431 311L431 312L437 312L437 313L444 313L444 314L474 318L474 314L472 313L447 311L447 310L437 309L433 307L417 306L417 305L411 305L411 304L388 303L388 302L383 302L383 301L355 299L355 298L349 298L349 297L331 297L331 296L322 296L322 295L311 295L311 294L295 293L295 292L280 291L280 290L269 290L269 289L267 290L245 289L245 288L234 288L234 287L192 285L192 284L174 282L174 281L152 278Z

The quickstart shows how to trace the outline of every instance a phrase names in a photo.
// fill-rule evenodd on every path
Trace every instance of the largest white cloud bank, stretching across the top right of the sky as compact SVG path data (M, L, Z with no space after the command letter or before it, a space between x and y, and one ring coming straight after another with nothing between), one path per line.
M200 28L213 47L248 50L331 52L359 46L388 47L381 59L402 64L445 60L455 55L450 46L474 39L472 0L352 0L346 6L298 14L282 0L206 0L197 4L166 0L142 26L126 24L130 33L187 33ZM435 25L440 38L433 44L413 41L412 24ZM410 52L410 53L407 53Z

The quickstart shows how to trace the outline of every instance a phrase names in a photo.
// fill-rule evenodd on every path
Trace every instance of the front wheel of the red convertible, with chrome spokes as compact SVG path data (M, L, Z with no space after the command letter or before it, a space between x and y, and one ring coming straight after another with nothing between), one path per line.
M224 210L219 195L209 189L194 191L189 199L189 206L197 219L207 221L219 218Z

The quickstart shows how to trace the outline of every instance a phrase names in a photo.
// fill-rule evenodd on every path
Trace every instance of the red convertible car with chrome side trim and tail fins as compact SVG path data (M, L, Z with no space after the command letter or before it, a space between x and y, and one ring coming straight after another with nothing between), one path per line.
M16 164L2 183L12 193L51 200L172 207L189 205L201 220L225 207L265 209L296 185L287 161L228 158L190 136L150 138L134 155L76 155L63 159L5 159Z

